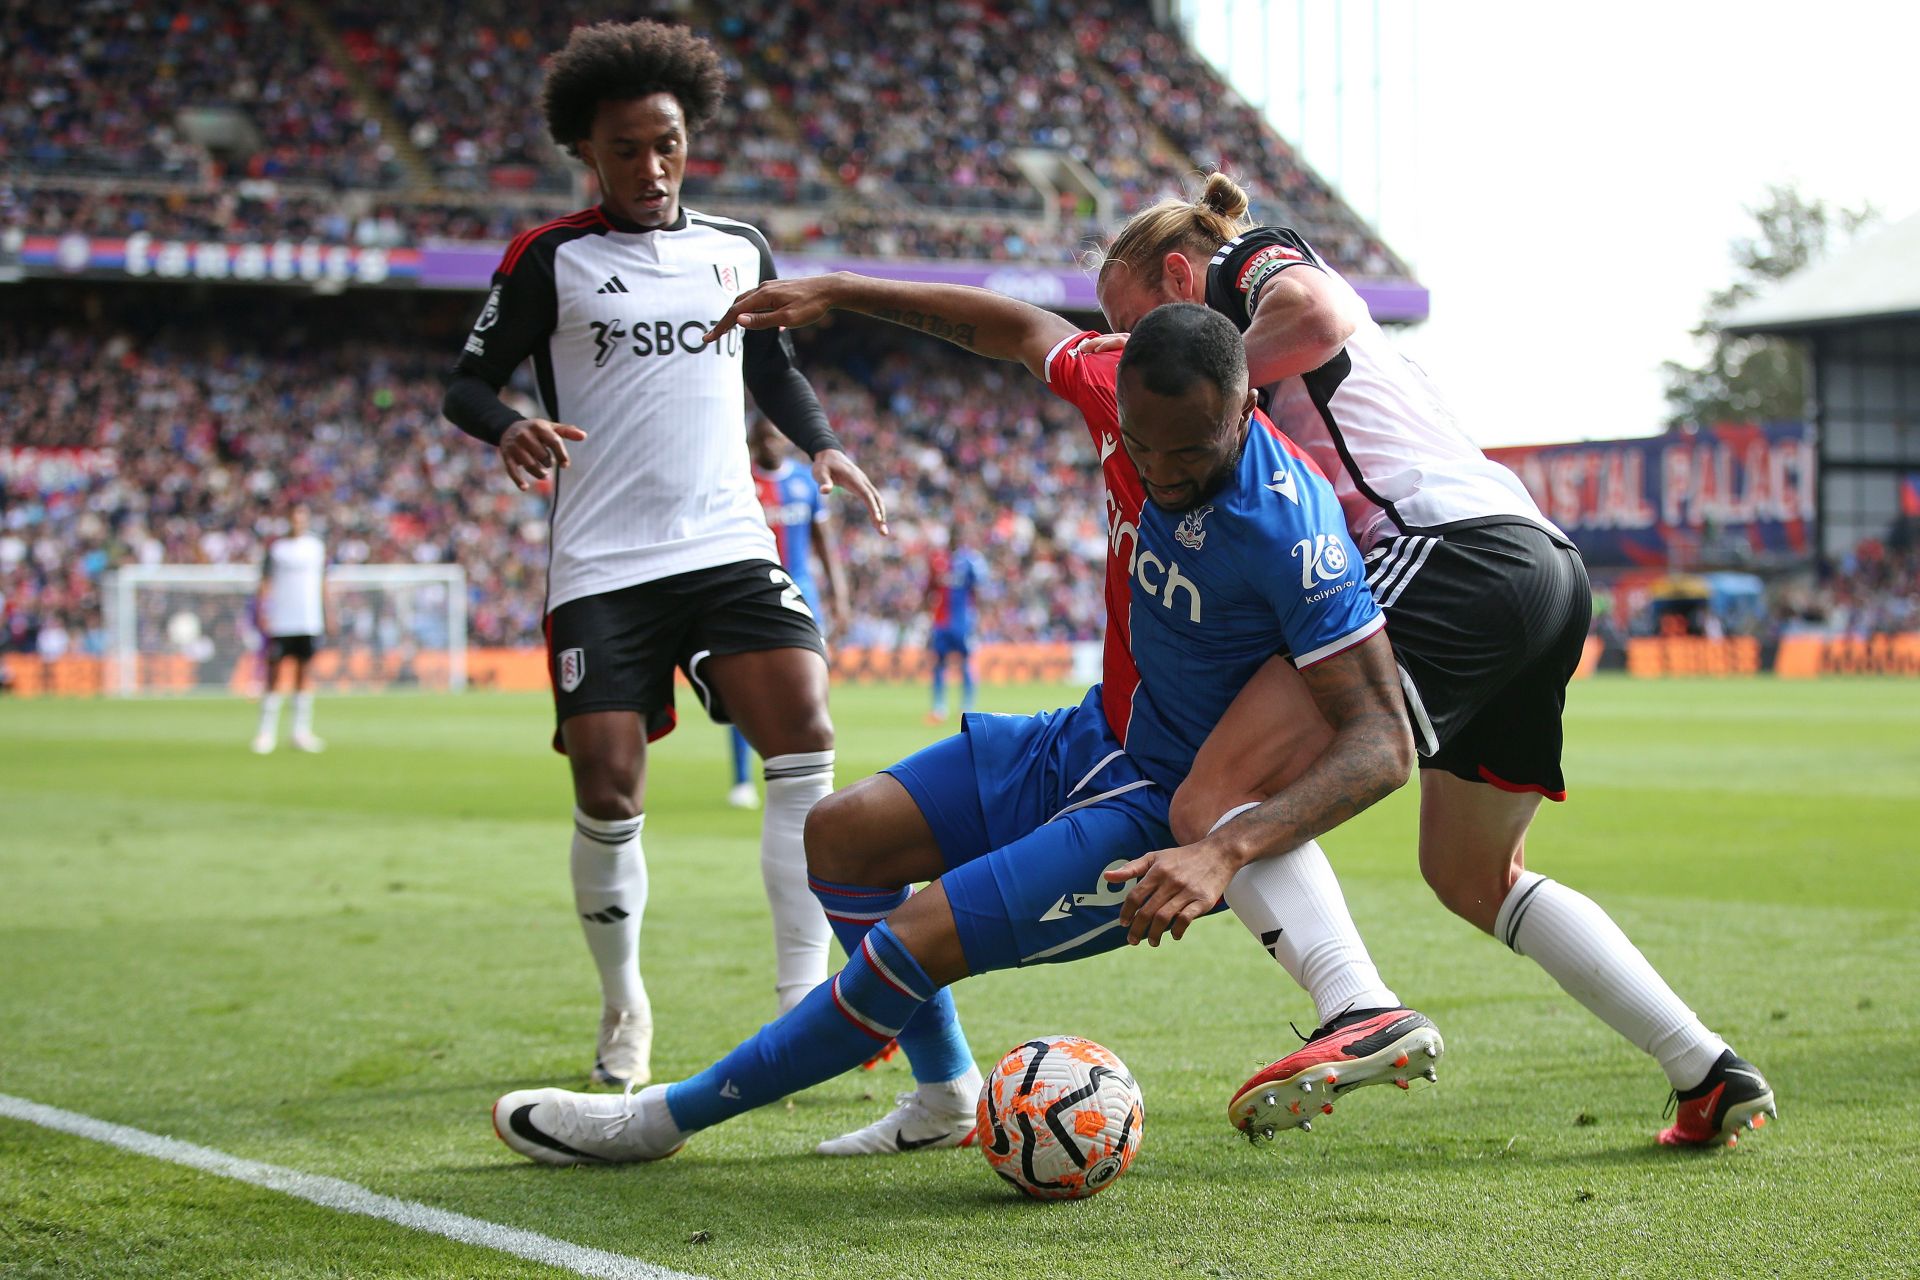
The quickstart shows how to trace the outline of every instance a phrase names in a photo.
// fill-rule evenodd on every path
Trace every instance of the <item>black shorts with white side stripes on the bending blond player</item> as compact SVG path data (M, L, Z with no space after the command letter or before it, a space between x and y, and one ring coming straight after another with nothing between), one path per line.
M1423 770L1567 798L1561 712L1594 595L1580 553L1540 526L1405 533L1367 553Z

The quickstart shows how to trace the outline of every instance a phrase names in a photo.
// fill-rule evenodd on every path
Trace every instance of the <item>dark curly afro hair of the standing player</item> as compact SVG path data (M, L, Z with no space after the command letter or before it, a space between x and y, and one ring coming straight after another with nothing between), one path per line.
M603 102L672 94L693 130L714 117L724 90L720 54L685 27L595 23L574 27L566 48L547 63L540 107L553 140L580 155Z

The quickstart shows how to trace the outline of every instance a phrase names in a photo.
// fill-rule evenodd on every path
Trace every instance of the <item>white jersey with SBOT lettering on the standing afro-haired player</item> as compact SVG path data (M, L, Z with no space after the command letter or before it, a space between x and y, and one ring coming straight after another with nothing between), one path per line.
M516 238L461 368L493 386L534 359L543 413L584 430L553 474L547 610L739 560L776 560L747 461L743 378L791 363L785 334L707 332L774 278L766 238L682 209L618 230L588 209Z

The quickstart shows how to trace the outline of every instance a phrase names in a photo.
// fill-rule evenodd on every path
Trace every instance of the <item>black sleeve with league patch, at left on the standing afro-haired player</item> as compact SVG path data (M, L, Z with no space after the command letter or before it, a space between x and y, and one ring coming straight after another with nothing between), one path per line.
M515 242L493 273L480 319L467 334L442 413L474 439L497 445L520 415L499 401L513 370L553 334L559 301L553 288L553 246Z

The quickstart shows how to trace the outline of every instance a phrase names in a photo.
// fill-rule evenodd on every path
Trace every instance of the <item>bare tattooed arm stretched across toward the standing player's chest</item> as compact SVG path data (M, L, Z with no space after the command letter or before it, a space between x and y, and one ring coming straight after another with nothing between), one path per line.
M733 299L707 342L730 328L803 328L828 311L854 311L876 320L945 338L996 361L1016 361L1035 378L1046 378L1046 353L1062 338L1081 332L1052 311L1016 301L993 290L964 284L877 280L835 271L799 280L770 280Z

